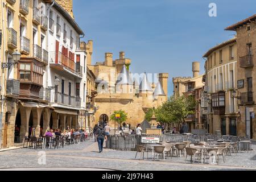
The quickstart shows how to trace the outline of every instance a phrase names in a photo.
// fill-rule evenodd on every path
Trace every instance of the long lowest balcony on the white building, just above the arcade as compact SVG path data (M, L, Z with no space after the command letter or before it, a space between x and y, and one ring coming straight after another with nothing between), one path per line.
M55 104L63 104L68 106L81 107L81 98L80 97L72 97L67 94L62 93L54 93L54 103Z

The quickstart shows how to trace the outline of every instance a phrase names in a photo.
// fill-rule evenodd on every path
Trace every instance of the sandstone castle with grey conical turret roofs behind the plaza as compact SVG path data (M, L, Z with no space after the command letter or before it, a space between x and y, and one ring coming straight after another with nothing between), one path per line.
M134 75L129 72L131 59L125 57L125 52L119 52L116 60L113 53L105 53L105 61L93 65L93 42L84 43L84 47L88 68L96 76L96 121L110 121L114 111L122 109L128 114L126 123L134 127L144 120L148 109L157 108L167 100L168 73L159 73L156 83L149 82L146 73ZM113 121L109 123L115 126Z

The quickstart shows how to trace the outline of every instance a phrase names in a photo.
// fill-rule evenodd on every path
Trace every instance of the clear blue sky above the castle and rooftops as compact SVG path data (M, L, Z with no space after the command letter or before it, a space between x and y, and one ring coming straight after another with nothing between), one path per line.
M209 3L216 3L217 17L208 15ZM131 72L169 73L192 76L192 61L201 62L211 47L232 38L225 27L256 13L255 0L73 0L75 19L93 40L93 63L114 59L125 51L132 59Z

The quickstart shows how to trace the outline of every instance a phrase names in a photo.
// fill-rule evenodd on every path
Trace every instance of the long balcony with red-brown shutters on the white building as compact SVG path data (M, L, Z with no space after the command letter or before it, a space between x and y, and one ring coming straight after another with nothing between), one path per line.
M82 78L82 67L61 52L51 52L50 66L59 71L66 71L73 76Z

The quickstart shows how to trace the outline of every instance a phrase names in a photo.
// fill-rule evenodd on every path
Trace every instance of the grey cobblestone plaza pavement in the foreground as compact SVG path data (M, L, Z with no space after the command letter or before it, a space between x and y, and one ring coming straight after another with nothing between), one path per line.
M64 146L64 148L43 150L46 152L46 163L40 164L42 150L30 150L20 148L0 152L0 169L13 170L14 168L33 170L51 169L97 169L101 170L125 170L125 171L233 171L233 170L256 170L256 145L252 145L253 151L238 152L232 156L226 156L226 162L220 159L219 165L200 164L196 161L191 164L190 157L187 160L169 157L166 160L152 161L151 152L148 153L148 160L134 159L134 151L115 151L105 149L98 153L97 143L87 140L80 144ZM140 155L140 154L139 154Z

